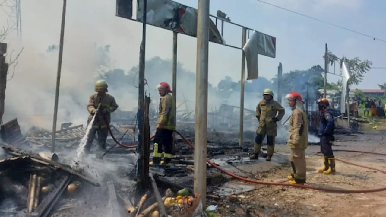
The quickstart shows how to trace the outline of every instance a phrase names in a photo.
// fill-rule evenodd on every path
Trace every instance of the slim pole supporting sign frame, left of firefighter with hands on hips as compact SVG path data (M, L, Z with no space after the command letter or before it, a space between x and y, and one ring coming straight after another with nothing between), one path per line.
M242 28L241 47L244 47L247 41L247 29ZM244 87L245 87L245 53L241 50L241 87L240 87L240 126L239 126L239 146L242 147L242 136L244 133Z

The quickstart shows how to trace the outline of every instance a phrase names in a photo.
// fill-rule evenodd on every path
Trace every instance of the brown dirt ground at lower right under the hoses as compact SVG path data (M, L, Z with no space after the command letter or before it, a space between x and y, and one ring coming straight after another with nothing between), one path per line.
M386 153L384 142L386 134L366 132L350 136L336 136L334 149L348 149ZM319 146L306 149L307 185L344 188L370 189L386 186L386 174L336 163L336 175L323 175L316 172L322 165L322 158L315 156ZM289 153L286 146L278 145L276 151ZM386 157L373 154L335 152L336 158L353 163L386 170ZM286 182L289 166L280 166L255 178L264 181ZM239 182L235 181L234 182ZM218 205L212 216L276 216L276 217L384 217L386 216L385 192L376 193L327 193L287 186L257 186L256 190L226 197L221 201L208 201L208 205Z

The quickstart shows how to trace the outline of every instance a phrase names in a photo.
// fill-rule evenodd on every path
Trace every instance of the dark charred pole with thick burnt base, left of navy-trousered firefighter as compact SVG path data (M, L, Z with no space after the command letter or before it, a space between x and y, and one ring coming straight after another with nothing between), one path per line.
M141 5L139 5L141 6ZM146 162L146 153L149 153L149 144L146 144L145 126L144 126L144 105L145 105L145 51L146 51L146 11L147 0L143 1L142 14L142 42L139 52L139 81L138 81L138 171L137 178L143 190L147 188L149 180L149 161Z

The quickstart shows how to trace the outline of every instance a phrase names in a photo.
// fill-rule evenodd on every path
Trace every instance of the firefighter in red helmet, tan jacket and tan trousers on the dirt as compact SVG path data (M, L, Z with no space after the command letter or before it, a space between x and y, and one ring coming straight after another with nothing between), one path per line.
M288 105L292 108L287 140L287 146L291 148L291 175L288 176L288 180L291 184L304 184L306 183L305 149L308 144L308 116L299 93L291 92L286 98Z

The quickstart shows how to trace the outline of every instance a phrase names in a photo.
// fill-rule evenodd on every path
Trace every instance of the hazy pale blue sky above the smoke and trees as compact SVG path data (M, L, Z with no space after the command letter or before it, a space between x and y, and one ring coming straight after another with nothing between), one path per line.
M22 44L27 50L24 56L28 52L31 52L30 54L44 52L50 44L58 44L61 2L21 1ZM195 0L178 2L197 7ZM386 8L386 1L383 0L266 0L266 2L371 36L379 38L385 36L386 39L383 28L385 15L382 9ZM386 66L384 42L373 41L368 37L306 19L257 0L211 0L210 6L211 14L222 10L228 14L232 22L277 38L276 58L259 57L260 76L272 78L276 74L279 62L283 63L284 73L289 70L305 70L316 64L323 66L322 56L326 42L328 48L339 57L359 56L373 61L373 66ZM115 17L115 1L69 0L67 12L64 49L67 55L74 56L79 50L86 50L89 44L97 42L100 45L111 44L114 66L129 70L138 63L141 24ZM2 12L0 18L4 18ZM0 24L5 23L5 19L0 20ZM152 56L171 58L172 33L155 27L149 27L147 33L147 59ZM226 25L224 34L228 43L241 44L240 29ZM180 35L178 46L178 60L189 70L195 71L196 39ZM209 82L217 84L223 76L239 80L241 51L211 43L209 55ZM69 63L64 59L63 64L66 67ZM330 68L330 71L333 69ZM386 81L385 72L385 70L369 71L358 87L378 88L377 83ZM52 76L54 79L54 75ZM337 78L328 75L328 81L336 81Z

